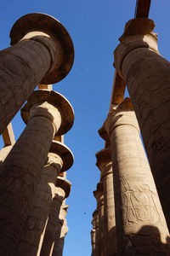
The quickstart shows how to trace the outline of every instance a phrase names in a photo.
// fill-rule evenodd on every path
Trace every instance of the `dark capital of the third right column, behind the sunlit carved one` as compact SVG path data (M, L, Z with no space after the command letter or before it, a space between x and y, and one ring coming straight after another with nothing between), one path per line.
M102 171L103 167L111 162L111 148L102 149L95 156L97 159L96 166Z

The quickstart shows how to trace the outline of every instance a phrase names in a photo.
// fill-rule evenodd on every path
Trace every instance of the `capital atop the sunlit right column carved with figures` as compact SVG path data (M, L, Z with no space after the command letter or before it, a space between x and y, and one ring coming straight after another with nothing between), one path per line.
M111 136L111 132L121 125L131 125L139 131L139 124L133 111L133 104L129 97L114 108L110 109L110 113L105 119L105 131Z

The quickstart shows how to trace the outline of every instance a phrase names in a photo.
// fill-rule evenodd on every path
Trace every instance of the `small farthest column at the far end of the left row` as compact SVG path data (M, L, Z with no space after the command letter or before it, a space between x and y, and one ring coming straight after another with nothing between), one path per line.
M63 249L65 244L65 236L68 232L68 226L66 222L66 214L67 214L67 208L68 206L65 206L65 204L61 207L59 212L59 223L57 232L55 235L55 241L54 241L54 250L52 256L62 256L63 255Z

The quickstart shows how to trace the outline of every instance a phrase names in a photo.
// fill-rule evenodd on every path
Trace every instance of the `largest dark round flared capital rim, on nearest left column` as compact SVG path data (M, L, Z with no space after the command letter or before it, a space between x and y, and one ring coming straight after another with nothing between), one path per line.
M59 49L61 63L56 63L42 79L42 84L54 84L64 79L70 72L74 61L74 47L65 27L50 15L33 13L22 16L10 31L11 45L17 44L29 32L44 32L53 38ZM38 34L34 34L34 37Z

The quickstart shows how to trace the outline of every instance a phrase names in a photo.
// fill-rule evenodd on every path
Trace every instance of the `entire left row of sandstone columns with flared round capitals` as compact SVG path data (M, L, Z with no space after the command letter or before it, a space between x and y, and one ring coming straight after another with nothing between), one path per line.
M61 256L71 192L64 173L73 164L63 136L74 112L48 84L71 70L73 44L65 27L43 14L21 17L10 38L13 46L0 52L0 132L6 136L27 100L21 109L26 129L0 151L0 254Z

